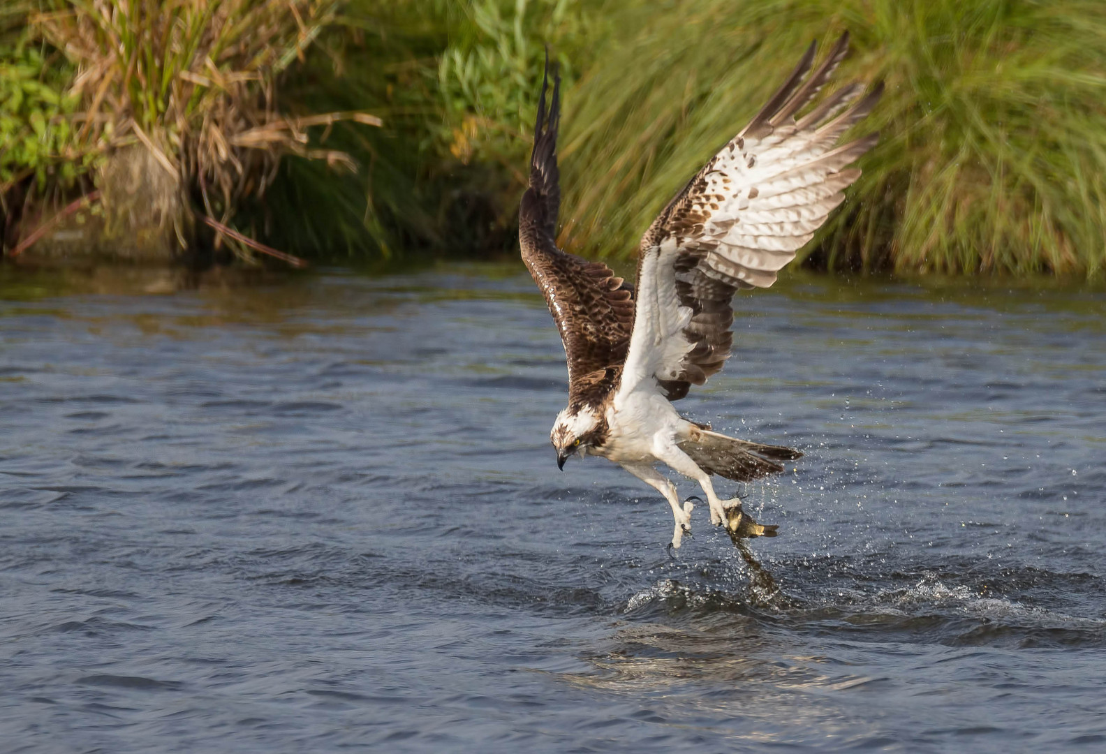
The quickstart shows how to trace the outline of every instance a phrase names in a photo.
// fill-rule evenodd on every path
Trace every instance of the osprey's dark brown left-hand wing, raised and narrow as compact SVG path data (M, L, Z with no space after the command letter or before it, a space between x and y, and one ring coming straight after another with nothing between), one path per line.
M545 93L549 61L534 126L530 188L519 210L522 261L545 294L568 357L568 402L598 405L617 381L634 326L633 289L599 262L588 262L556 248L561 203L556 134L561 119L561 76L554 70L549 112Z

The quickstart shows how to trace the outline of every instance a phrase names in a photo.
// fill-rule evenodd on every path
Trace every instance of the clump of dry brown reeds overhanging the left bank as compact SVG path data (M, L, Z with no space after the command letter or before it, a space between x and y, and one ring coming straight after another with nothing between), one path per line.
M194 209L230 224L243 202L264 193L284 156L355 167L341 150L312 146L309 128L344 119L379 125L361 112L293 116L278 106L279 77L304 60L333 19L334 0L36 6L28 30L75 73L65 97L80 105L63 121L82 161L101 164L105 203L143 195L184 245L192 242ZM248 247L231 245L250 255Z

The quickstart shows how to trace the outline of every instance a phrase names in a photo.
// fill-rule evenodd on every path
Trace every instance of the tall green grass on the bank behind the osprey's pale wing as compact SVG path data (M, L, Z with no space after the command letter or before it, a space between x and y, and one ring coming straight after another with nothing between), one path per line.
M623 3L617 46L565 100L562 235L627 256L811 39L883 78L880 144L808 263L1093 275L1106 261L1106 4L1091 0Z

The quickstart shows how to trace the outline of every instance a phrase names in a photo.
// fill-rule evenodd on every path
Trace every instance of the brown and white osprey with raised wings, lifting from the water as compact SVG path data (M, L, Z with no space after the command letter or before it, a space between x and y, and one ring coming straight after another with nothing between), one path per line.
M550 439L562 470L572 455L601 455L662 494L676 520L669 548L691 534L699 499L681 505L658 463L699 483L712 524L733 536L775 533L742 515L740 498L720 499L711 475L745 482L782 472L780 461L802 453L713 432L682 418L671 401L730 356L734 293L774 283L859 177L848 166L878 135L837 142L872 111L881 84L864 96L863 84L848 84L796 119L847 50L845 33L806 75L812 43L760 113L668 202L641 239L636 286L556 247L561 77L554 71L546 111L546 61L519 242L568 360L568 406Z

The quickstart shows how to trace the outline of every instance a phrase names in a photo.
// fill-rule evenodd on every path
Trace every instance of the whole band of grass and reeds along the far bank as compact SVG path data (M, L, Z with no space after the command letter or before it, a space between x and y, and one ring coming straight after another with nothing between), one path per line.
M549 43L565 78L561 241L630 258L656 211L744 125L810 40L824 45L847 29L854 51L837 81L886 81L862 126L883 138L807 248L808 266L1093 276L1106 263L1099 0L52 7L62 13L32 24L34 44L13 40L0 15L0 65L20 66L31 83L19 86L23 102L0 94L0 117L21 108L8 123L28 118L21 147L6 136L0 170L9 172L0 176L32 169L36 182L63 182L74 171L58 167L72 161L63 157L79 154L80 172L88 154L105 154L105 135L113 145L140 139L135 128L121 133L128 117L194 177L190 186L209 189L199 191L206 213L298 254L511 253ZM94 15L101 8L115 9L109 22ZM86 36L98 41L75 53ZM123 55L96 69L116 41ZM60 81L77 67L100 73L85 75L73 105L73 86ZM276 115L278 102L288 116ZM43 113L40 130L56 125L49 138L29 107ZM94 127L73 127L81 108L101 113ZM311 119L335 111L372 113L383 127ZM311 123L325 127L309 142Z

